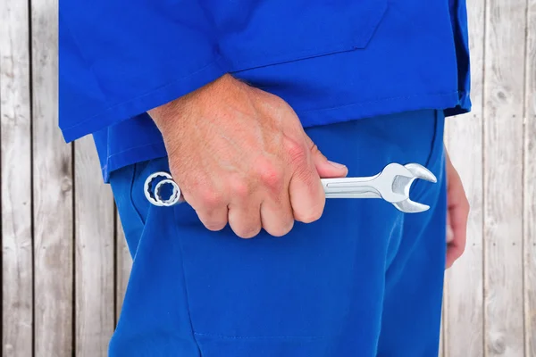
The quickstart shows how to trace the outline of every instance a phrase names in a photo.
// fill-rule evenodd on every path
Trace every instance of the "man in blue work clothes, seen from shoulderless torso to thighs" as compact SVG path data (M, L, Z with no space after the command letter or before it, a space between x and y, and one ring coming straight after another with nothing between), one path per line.
M437 355L469 110L464 0L63 0L60 126L95 137L134 258L110 355ZM429 211L326 201L390 162L437 177ZM187 203L147 201L156 171Z

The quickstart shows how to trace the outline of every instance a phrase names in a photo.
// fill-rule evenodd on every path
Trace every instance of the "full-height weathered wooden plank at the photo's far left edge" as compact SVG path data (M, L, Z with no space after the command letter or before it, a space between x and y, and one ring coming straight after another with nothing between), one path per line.
M29 9L0 2L2 355L32 355Z

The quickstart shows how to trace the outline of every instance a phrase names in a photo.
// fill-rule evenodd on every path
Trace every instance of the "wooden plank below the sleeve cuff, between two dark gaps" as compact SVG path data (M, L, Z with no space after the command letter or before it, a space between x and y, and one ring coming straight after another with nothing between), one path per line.
M114 210L92 137L75 145L77 357L106 356L114 325Z

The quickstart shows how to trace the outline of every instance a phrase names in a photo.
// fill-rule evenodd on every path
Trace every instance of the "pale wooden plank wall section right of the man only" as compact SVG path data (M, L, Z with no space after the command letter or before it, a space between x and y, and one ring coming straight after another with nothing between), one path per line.
M446 143L472 204L445 357L536 356L536 1L471 0L473 112Z

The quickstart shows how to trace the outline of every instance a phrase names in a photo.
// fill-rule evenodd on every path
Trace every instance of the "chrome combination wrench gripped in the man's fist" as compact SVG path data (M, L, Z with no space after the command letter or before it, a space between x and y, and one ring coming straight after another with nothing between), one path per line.
M153 185L155 179L162 178ZM389 163L377 175L368 178L322 179L322 187L326 198L382 198L392 203L399 211L416 213L427 211L430 206L417 203L409 198L409 190L415 179L424 179L435 183L436 177L430 170L418 163ZM172 194L163 198L163 185L172 185ZM156 206L172 206L184 202L180 187L172 176L163 171L150 175L144 186L145 195L150 203Z

